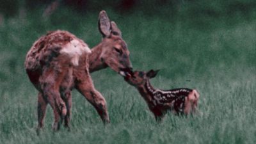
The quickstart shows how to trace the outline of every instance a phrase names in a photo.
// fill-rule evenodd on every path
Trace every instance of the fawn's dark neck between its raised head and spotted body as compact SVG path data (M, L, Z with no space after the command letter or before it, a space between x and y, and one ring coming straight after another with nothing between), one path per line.
M154 92L156 90L153 88L148 80L143 86L139 86L138 90L143 99L145 99L148 104L152 102L152 99L154 99Z

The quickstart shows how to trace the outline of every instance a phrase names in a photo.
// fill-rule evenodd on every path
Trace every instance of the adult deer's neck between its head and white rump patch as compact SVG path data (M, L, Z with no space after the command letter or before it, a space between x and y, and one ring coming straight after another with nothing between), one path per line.
M97 70L108 67L104 61L100 60L100 55L102 54L102 44L96 45L92 49L92 53L89 56L89 71L95 72Z

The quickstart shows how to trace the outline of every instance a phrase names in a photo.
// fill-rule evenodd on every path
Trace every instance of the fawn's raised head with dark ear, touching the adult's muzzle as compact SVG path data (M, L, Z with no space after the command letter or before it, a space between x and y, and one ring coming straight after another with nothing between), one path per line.
M143 86L149 79L155 77L157 72L159 72L159 70L149 70L148 72L130 72L125 76L125 81L127 81L132 86Z

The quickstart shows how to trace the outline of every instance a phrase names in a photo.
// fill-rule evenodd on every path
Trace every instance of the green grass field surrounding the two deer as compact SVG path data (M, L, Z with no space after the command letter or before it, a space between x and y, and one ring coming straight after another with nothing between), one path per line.
M106 98L111 124L104 127L95 109L73 91L72 131L62 127L52 132L48 107L44 131L36 136L37 92L24 70L26 52L49 30L68 30L90 47L101 36L98 13L63 10L46 20L27 13L0 25L1 144L255 143L256 20L243 15L164 19L107 12L122 30L134 69L161 69L152 79L156 88L196 88L200 115L168 114L158 124L135 88L107 68L92 77Z

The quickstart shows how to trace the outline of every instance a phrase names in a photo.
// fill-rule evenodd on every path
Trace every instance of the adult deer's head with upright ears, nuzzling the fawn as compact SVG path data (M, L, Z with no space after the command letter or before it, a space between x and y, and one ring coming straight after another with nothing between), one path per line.
M127 44L115 22L110 21L105 11L99 13L99 31L103 36L100 60L113 70L125 76L131 72L132 64Z

